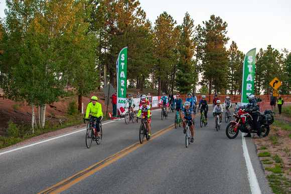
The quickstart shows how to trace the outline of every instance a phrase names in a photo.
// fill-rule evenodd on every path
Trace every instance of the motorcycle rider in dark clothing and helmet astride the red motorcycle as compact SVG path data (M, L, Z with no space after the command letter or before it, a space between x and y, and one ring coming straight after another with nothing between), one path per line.
M246 97L248 99L248 104L246 106L246 110L247 112L250 113L250 115L252 116L252 122L254 125L254 128L257 129L257 132L259 134L259 139L262 138L262 129L261 126L259 124L259 105L257 103L257 101L255 100L255 96L253 94L247 95ZM251 137L250 132L247 135L244 135L244 137Z

